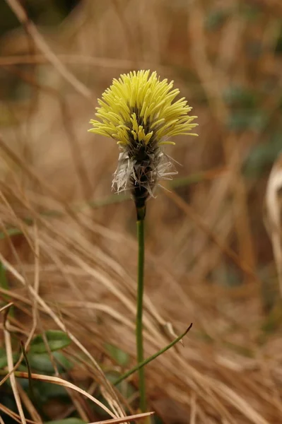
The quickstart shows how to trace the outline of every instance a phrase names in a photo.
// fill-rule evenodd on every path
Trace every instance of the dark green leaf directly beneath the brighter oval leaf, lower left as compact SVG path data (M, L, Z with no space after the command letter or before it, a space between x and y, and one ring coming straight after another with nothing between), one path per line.
M69 360L63 355L61 352L54 352L54 361L58 366L59 372L63 372L64 370L70 370L73 365L69 362ZM42 371L53 373L54 367L52 364L52 360L49 357L48 353L28 353L28 363L30 368Z

